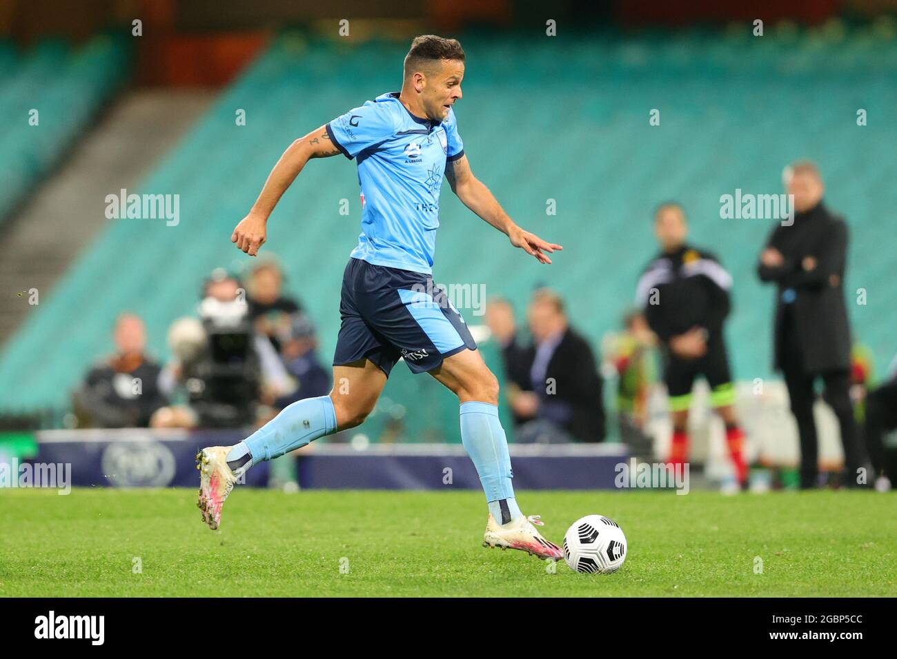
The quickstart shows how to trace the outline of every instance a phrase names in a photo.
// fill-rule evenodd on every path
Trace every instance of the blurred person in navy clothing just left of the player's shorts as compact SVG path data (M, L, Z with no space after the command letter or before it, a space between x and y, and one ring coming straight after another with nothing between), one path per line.
M330 370L318 359L318 340L309 316L304 313L292 316L290 331L281 334L279 339L281 358L287 372L296 380L296 388L290 394L278 397L274 407L283 409L303 398L329 394Z

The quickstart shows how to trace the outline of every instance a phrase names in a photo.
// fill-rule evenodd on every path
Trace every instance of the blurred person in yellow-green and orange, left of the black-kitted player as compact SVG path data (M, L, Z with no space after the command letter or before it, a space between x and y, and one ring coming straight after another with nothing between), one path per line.
M623 317L623 332L608 342L605 360L617 374L617 417L620 436L633 455L649 457L651 438L644 427L650 388L657 380L655 350L657 337L644 314L638 310Z

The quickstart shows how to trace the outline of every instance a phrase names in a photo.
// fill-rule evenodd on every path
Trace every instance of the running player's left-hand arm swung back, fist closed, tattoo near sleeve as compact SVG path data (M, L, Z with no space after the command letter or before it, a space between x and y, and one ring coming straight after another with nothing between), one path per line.
M286 189L299 176L305 163L312 158L327 158L339 152L330 140L325 126L290 144L268 175L249 214L233 230L231 242L237 243L237 248L249 256L256 256L258 249L265 244L268 217Z

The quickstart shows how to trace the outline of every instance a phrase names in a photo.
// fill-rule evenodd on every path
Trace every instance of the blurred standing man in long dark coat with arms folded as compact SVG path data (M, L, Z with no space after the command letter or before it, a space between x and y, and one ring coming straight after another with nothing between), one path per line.
M775 282L775 367L788 386L800 436L800 484L818 484L814 383L822 377L826 403L838 417L846 485L855 485L862 462L850 403L850 329L844 303L847 224L823 204L819 169L799 160L785 170L794 195L793 224L779 224L760 255L762 282Z

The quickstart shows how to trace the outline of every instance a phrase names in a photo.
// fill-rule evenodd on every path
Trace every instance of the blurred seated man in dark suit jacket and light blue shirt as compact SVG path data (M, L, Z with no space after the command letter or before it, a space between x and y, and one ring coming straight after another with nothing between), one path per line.
M535 342L528 362L530 390L509 397L514 412L530 420L517 441L604 440L601 376L588 342L570 327L561 298L552 290L536 290L528 318Z

